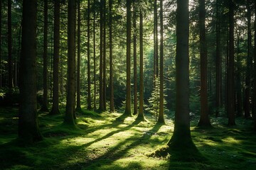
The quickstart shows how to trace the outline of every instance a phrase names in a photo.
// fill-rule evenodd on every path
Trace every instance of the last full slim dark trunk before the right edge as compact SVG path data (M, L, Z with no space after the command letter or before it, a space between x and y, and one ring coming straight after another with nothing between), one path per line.
M245 77L245 118L250 118L250 88L252 72L252 30L251 30L251 1L246 1L247 8L247 59L246 59L246 77Z

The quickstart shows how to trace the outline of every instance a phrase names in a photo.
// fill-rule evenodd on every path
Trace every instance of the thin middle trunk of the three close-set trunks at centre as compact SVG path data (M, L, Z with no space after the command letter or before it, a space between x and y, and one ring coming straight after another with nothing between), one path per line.
M137 16L136 16L136 4L135 1L133 1L133 29L134 29L134 36L133 36L133 50L134 50L134 115L137 115L138 113L138 97L137 97L137 26L136 26L136 20L137 20ZM139 84L139 86L141 86Z

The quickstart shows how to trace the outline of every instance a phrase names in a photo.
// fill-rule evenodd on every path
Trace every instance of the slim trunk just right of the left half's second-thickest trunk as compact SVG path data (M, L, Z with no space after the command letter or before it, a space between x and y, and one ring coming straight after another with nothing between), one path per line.
M78 78L77 78L77 106L76 111L81 111L81 98L80 98L80 26L81 26L81 16L80 16L80 0L78 0Z

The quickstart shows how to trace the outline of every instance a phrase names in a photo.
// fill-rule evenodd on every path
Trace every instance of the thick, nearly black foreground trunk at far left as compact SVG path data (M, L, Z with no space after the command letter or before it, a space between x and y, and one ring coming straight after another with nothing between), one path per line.
M36 0L23 0L18 138L26 143L43 139L38 128L36 103L36 6Z

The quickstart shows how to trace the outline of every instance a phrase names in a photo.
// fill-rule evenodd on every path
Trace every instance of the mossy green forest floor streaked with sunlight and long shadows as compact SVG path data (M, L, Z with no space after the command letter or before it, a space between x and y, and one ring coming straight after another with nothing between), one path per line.
M64 113L64 111L61 111ZM213 128L197 128L191 135L205 161L149 157L166 146L174 130L173 115L166 125L135 117L116 120L121 113L78 113L77 128L63 125L63 115L39 112L44 140L21 147L16 140L18 108L0 108L0 169L256 169L256 133L252 120L211 118ZM182 151L181 151L182 152ZM175 160L175 161L174 161Z

